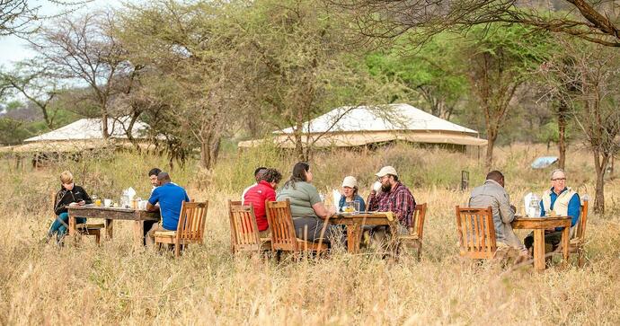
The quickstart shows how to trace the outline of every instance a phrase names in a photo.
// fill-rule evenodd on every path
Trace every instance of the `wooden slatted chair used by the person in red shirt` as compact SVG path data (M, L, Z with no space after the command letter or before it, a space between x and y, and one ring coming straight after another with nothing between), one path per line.
M254 216L254 207L240 204L240 201L228 200L231 250L233 253L239 251L269 251L271 249L271 239L260 237L256 216Z

